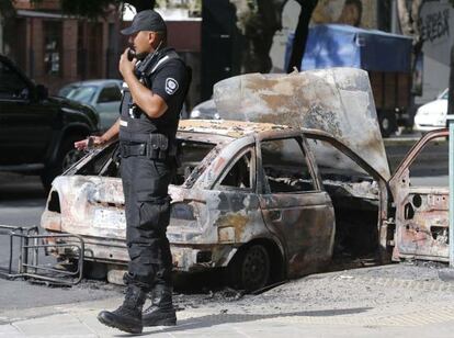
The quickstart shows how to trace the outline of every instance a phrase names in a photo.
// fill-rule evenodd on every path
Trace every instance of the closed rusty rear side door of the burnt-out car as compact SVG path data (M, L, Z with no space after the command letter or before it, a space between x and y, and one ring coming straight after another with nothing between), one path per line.
M321 190L302 135L259 140L260 207L284 244L287 275L316 271L331 259L334 210Z

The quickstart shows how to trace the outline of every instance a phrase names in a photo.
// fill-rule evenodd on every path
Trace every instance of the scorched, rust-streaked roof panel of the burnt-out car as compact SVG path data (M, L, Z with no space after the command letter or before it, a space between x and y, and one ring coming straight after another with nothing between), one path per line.
M250 134L292 129L273 123L228 120L180 120L179 132L194 132L240 138Z

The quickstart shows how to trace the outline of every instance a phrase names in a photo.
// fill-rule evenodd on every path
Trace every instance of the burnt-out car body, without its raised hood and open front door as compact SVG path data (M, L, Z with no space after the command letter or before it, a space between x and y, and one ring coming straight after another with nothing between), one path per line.
M336 246L352 255L378 248L385 181L327 133L186 121L178 136L183 157L170 187L168 227L177 270L229 267L235 285L253 290L319 271ZM318 167L311 144L320 143L339 147L348 154L339 158L351 156L373 176L361 167ZM87 260L113 268L128 260L116 147L94 150L57 178L42 217L48 233L81 236ZM55 254L75 258L67 249Z

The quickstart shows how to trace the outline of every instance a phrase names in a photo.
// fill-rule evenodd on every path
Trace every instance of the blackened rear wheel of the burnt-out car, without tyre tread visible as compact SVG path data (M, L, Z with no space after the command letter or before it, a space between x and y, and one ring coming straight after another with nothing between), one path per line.
M252 246L245 255L242 262L242 284L246 290L257 290L266 285L270 273L270 261L266 249Z

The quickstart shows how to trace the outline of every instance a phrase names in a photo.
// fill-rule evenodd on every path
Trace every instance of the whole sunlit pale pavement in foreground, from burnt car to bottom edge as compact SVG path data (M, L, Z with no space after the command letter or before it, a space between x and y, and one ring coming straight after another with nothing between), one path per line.
M186 303L178 312L178 326L146 327L143 336L453 337L454 283L439 280L433 269L417 269L391 266L331 272L238 302ZM299 301L305 297L310 298ZM114 309L121 302L115 296L3 312L0 337L127 337L97 319L100 311Z

